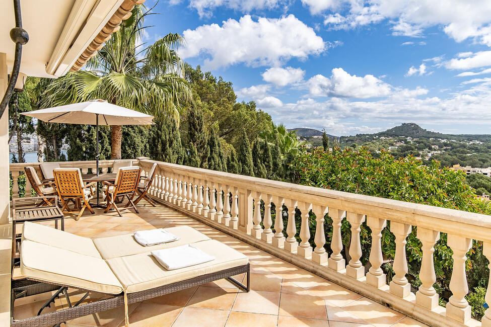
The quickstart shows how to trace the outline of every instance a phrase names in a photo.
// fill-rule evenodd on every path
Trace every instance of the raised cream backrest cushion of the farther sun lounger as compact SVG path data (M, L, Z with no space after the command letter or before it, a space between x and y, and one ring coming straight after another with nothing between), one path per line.
M26 221L22 231L22 240L25 239L101 259L92 239L49 226Z

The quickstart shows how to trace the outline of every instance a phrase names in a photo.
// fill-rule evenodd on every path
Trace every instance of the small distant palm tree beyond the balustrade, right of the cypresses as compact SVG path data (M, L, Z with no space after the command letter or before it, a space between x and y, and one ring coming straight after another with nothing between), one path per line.
M282 157L288 154L297 155L304 151L304 145L308 144L306 141L300 141L296 131L289 131L285 125L275 125L273 122L267 130L259 133L259 137L270 144L276 144Z

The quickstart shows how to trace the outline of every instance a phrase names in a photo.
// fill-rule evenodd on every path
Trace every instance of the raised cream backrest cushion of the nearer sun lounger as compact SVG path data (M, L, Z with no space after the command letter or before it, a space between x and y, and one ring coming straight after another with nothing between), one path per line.
M121 283L100 258L59 249L24 239L21 274L27 278L68 285L96 292L119 294Z

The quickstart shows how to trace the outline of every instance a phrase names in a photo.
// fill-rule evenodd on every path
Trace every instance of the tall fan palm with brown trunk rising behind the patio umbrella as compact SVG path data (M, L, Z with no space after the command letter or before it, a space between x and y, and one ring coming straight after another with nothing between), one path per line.
M191 99L184 63L176 50L184 44L179 34L168 34L154 44L141 43L145 7L135 6L104 47L87 62L86 70L50 81L41 106L53 107L92 99L176 120ZM143 48L143 49L142 49ZM121 126L111 127L111 157L121 158Z

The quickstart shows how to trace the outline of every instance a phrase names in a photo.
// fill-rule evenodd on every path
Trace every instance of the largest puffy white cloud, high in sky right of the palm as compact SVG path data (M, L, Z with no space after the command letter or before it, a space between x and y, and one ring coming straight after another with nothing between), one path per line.
M179 50L183 58L203 55L204 67L216 69L236 63L250 66L278 66L295 57L306 59L320 54L327 45L315 31L294 15L278 19L246 15L218 24L185 30L186 46Z

